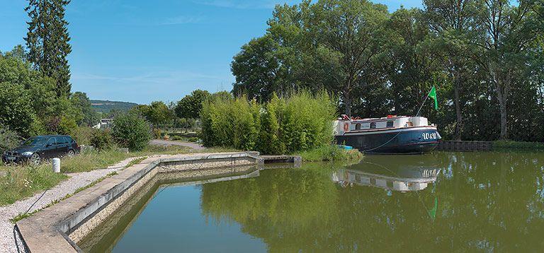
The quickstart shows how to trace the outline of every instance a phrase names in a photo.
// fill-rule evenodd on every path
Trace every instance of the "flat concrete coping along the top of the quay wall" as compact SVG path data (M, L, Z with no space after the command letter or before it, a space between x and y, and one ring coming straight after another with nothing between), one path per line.
M175 156L175 155L173 155ZM84 225L98 211L106 208L111 201L130 189L159 165L165 163L201 163L209 160L252 160L251 164L263 164L259 152L185 154L172 158L147 158L137 165L120 171L102 182L45 208L34 216L19 220L16 228L28 252L81 252L69 234ZM142 167L142 165L145 165ZM248 165L248 164L246 164ZM230 167L230 166L227 166ZM203 170L201 167L198 170ZM182 171L182 170L180 170Z

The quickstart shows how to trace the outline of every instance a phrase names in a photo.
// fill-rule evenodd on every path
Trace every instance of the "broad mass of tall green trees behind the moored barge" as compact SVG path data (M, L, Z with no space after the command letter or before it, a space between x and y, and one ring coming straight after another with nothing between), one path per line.
M422 114L446 138L543 141L543 2L423 4L392 13L370 1L278 5L265 35L234 56L232 92L266 101L325 89L339 112L382 117L416 114L436 86L441 110Z

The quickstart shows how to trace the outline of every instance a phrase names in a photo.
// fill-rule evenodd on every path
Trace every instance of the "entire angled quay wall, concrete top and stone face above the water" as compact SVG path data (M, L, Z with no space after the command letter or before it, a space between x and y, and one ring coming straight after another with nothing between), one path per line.
M175 179L194 178L262 163L263 159L256 152L147 158L121 170L118 175L18 221L16 228L29 252L81 252L77 243L158 174Z

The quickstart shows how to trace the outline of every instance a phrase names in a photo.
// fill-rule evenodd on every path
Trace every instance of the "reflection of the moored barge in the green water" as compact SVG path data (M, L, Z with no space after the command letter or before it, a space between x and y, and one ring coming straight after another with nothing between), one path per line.
M361 163L333 173L332 180L341 185L358 184L392 191L419 191L436 181L440 172L420 157L370 156Z

